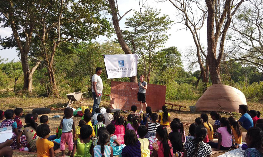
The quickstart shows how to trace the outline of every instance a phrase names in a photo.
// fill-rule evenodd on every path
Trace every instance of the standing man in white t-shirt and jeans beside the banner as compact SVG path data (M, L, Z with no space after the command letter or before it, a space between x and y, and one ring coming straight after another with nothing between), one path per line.
M102 90L103 90L103 84L102 84L102 79L100 78L99 75L102 73L102 68L97 67L96 68L96 74L94 74L91 78L92 81L92 95L93 95L93 108L92 108L92 116L95 114L96 108L99 107L100 100L101 100L101 95L102 95Z

